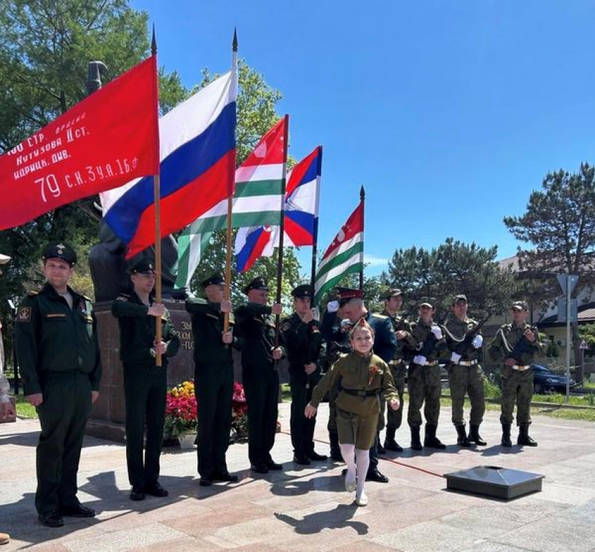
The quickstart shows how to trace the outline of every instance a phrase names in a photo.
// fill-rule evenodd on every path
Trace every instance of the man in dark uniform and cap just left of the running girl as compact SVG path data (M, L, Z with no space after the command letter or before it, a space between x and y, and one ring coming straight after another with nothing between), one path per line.
M302 284L291 291L293 315L283 321L281 333L289 360L291 387L291 444L293 462L307 466L310 460L323 461L327 457L314 451L316 417L306 418L304 408L312 396L312 389L320 381L326 357L326 345L321 325L310 308L311 286Z

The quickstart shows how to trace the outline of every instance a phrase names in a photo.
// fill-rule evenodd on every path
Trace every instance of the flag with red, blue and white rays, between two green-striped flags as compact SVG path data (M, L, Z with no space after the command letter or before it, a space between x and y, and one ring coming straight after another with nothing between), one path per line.
M322 167L322 146L297 163L287 175L283 246L314 244ZM238 272L250 270L260 257L279 247L279 226L240 228L235 242Z

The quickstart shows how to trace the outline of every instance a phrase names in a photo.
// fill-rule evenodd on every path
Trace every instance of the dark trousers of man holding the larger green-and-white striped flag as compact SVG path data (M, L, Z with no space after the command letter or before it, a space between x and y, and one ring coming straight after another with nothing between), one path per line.
M272 460L279 415L279 375L269 365L244 366L242 380L248 405L248 458L254 466Z

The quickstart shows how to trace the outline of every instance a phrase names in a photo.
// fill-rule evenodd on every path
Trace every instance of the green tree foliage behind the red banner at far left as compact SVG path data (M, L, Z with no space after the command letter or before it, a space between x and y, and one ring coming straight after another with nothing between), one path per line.
M5 0L0 3L0 153L12 149L85 97L87 63L101 60L111 81L149 54L148 15L126 0ZM187 91L178 74L160 70L161 111ZM66 205L0 233L0 251L13 260L0 297L18 298L43 280L38 258L48 240L78 251L78 277L92 291L85 262L97 241L97 221ZM4 301L2 302L4 303ZM6 305L0 304L0 314Z

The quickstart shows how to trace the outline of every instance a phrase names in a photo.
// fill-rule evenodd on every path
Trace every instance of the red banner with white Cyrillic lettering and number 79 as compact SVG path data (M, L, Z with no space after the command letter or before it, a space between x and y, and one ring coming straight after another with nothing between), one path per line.
M158 174L155 56L0 156L0 230Z

